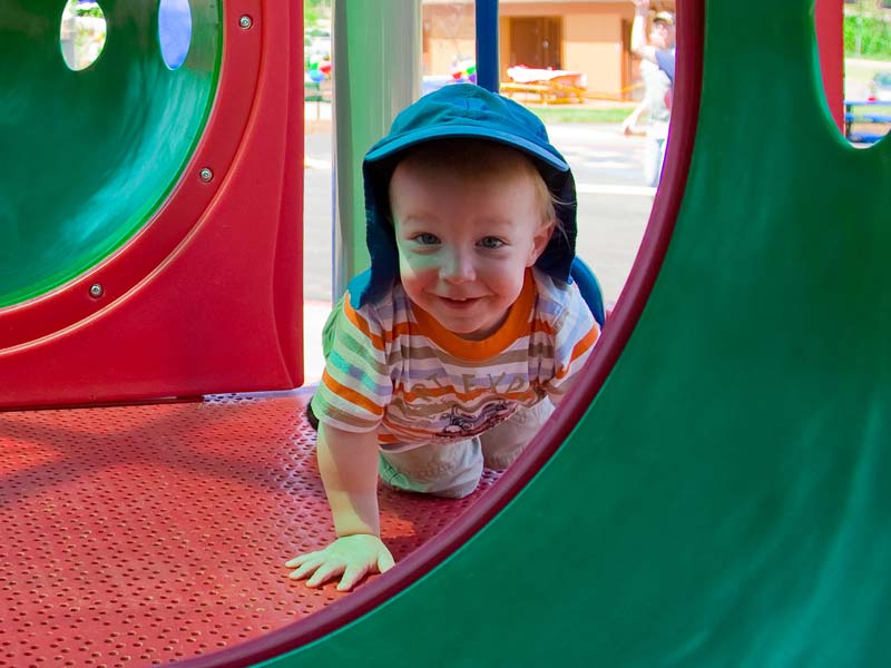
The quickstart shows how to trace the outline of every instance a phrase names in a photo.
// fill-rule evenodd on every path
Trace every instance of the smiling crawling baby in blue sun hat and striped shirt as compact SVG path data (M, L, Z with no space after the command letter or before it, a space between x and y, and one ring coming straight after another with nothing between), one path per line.
M393 566L379 475L470 494L522 452L600 334L569 277L572 175L530 111L446 86L396 117L363 176L371 268L325 325L310 406L339 538L286 563L341 590Z

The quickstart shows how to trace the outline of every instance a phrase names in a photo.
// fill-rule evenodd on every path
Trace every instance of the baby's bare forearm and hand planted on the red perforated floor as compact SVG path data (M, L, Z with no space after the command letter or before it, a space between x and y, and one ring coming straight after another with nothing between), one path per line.
M353 433L319 425L319 471L325 485L337 539L317 552L286 562L291 578L307 578L320 587L341 576L337 589L352 589L366 573L393 566L390 550L380 539L378 512L378 434Z

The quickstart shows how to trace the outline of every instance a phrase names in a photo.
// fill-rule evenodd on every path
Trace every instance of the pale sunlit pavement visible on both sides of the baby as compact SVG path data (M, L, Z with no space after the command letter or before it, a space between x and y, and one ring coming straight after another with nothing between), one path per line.
M304 171L304 315L307 382L321 373L321 327L331 304L332 156L330 109L306 105ZM642 176L643 138L617 125L555 125L551 143L576 177L578 255L597 274L607 302L615 302L634 263L653 205Z

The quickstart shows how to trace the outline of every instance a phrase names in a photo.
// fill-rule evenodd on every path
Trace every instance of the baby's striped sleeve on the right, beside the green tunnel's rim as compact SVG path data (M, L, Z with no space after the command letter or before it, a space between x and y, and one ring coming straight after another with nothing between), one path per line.
M562 292L564 307L551 325L554 375L545 383L550 400L558 404L575 383L579 371L600 337L600 326L581 297L577 285Z

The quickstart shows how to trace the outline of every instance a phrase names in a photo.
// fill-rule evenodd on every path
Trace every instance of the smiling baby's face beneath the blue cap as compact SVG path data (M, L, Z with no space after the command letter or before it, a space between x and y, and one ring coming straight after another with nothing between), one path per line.
M400 164L390 184L405 294L468 340L492 334L550 238L530 177Z

